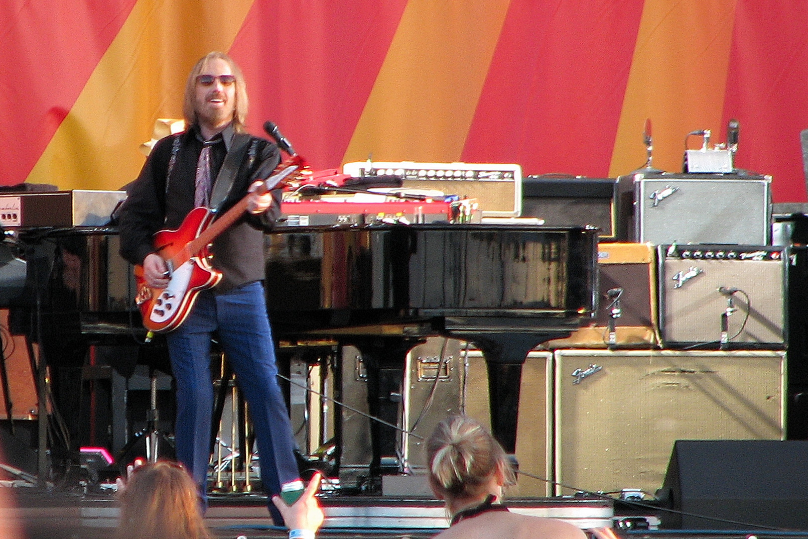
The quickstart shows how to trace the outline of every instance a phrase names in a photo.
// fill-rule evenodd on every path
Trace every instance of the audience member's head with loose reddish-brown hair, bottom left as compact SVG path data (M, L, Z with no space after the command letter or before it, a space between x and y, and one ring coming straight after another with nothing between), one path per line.
M179 464L137 466L119 495L116 539L209 539L196 483Z

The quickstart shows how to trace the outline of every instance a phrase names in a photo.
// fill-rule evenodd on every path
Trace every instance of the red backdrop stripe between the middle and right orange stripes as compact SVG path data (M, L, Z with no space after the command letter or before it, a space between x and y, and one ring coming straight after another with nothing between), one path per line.
M642 5L513 0L462 159L606 175Z

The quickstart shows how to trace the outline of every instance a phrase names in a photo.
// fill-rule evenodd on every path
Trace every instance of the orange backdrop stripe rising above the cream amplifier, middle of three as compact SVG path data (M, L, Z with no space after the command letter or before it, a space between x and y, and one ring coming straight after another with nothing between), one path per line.
M507 0L410 0L346 161L458 159Z

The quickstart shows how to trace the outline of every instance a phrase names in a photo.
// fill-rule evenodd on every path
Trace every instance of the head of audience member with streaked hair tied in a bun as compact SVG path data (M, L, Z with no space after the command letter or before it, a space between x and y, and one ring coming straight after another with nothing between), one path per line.
M441 498L477 498L492 476L501 486L516 484L507 454L479 422L455 415L435 427L427 440L429 482Z

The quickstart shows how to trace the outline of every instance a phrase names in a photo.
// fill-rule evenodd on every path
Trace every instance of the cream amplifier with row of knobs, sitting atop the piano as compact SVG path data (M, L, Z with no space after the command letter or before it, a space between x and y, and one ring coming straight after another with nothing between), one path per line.
M345 163L343 173L355 177L401 176L405 188L436 189L474 198L484 218L519 217L522 213L522 168L518 164L360 161Z

